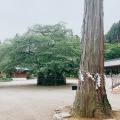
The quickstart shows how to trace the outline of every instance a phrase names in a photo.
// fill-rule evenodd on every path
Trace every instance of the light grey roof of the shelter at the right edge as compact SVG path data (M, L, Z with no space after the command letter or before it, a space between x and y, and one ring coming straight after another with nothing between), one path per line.
M105 68L120 67L120 59L111 59L104 62Z

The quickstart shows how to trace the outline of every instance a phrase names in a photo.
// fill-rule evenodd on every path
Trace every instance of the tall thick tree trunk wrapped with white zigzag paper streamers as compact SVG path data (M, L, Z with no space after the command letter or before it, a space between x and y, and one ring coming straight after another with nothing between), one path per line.
M73 115L103 118L111 114L104 80L103 0L84 0L82 56Z

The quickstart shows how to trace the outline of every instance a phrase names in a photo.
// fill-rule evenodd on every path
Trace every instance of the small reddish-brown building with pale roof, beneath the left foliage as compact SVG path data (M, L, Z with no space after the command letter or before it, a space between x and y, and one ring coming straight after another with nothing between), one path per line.
M13 72L11 74L11 78L13 80L26 80L26 73L27 73L28 69L27 68L20 68L20 67L16 67L15 68L15 72Z

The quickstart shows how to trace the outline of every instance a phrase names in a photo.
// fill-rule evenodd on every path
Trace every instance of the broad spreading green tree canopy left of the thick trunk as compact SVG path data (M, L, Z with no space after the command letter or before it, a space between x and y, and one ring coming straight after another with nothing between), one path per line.
M0 68L7 72L20 66L35 73L77 76L79 61L80 39L64 23L34 25L0 46Z

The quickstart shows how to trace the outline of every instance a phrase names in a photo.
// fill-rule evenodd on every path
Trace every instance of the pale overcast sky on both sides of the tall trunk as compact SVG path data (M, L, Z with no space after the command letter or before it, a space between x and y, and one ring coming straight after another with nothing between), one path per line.
M105 33L120 20L120 0L104 0ZM0 39L23 34L28 27L61 21L80 35L84 0L0 0Z

